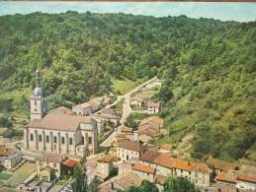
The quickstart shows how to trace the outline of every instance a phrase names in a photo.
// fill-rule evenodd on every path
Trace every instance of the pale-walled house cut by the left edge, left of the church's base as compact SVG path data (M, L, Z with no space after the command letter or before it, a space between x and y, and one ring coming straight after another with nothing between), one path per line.
M5 146L0 146L0 162L7 169L12 169L22 161L22 153Z

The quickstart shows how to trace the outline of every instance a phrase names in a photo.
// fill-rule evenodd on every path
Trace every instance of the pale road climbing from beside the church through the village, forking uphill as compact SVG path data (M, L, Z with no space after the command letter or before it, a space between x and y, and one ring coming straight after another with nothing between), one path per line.
M143 84L139 85L138 87L136 87L135 89L133 89L132 91L128 92L128 94L124 95L124 96L118 96L117 100L108 105L107 107L111 107L114 106L115 104L117 104L122 98L125 98L124 104L123 104L123 114L120 120L121 126L118 127L118 130L114 131L110 137L108 137L100 146L101 147L110 147L111 144L113 143L113 141L116 139L118 133L121 133L121 128L124 125L124 123L126 122L126 119L128 118L129 113L131 112L131 108L129 107L129 99L130 96L137 92L138 90L140 90L141 88L143 88L144 86L150 84L152 81L154 81L156 79L156 77L153 77L152 79L144 82Z

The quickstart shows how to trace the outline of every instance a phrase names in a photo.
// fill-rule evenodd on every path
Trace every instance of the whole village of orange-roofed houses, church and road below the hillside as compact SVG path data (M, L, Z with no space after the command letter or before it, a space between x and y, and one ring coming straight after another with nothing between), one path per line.
M101 192L127 190L142 180L163 191L170 176L186 177L202 191L256 191L255 167L213 158L186 160L175 153L175 146L152 144L168 132L165 120L158 116L161 103L141 93L157 91L161 84L154 77L124 96L99 96L72 109L60 106L48 111L37 71L30 98L31 121L24 128L21 151L1 146L1 164L9 172L34 164L32 173L16 186L22 190L72 191L71 179L62 185L57 181L71 178L76 164L86 158L83 167L88 183L99 179ZM119 102L122 109L115 107ZM145 114L137 127L125 124L130 113ZM117 175L111 176L114 169Z

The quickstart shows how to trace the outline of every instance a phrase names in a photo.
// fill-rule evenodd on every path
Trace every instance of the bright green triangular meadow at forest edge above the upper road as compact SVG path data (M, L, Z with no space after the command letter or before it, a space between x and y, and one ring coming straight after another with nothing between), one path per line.
M121 95L126 95L129 91L134 89L141 81L142 80L133 82L125 77L120 77L119 79L111 79L114 89L120 92Z

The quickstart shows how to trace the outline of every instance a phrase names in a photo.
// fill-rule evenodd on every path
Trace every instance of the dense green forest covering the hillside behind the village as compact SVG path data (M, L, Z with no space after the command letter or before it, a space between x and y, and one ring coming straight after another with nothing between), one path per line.
M193 133L193 158L223 160L256 142L256 22L68 11L2 16L0 26L2 126L29 119L36 69L49 109L117 95L113 78L158 76L169 130L159 142Z

